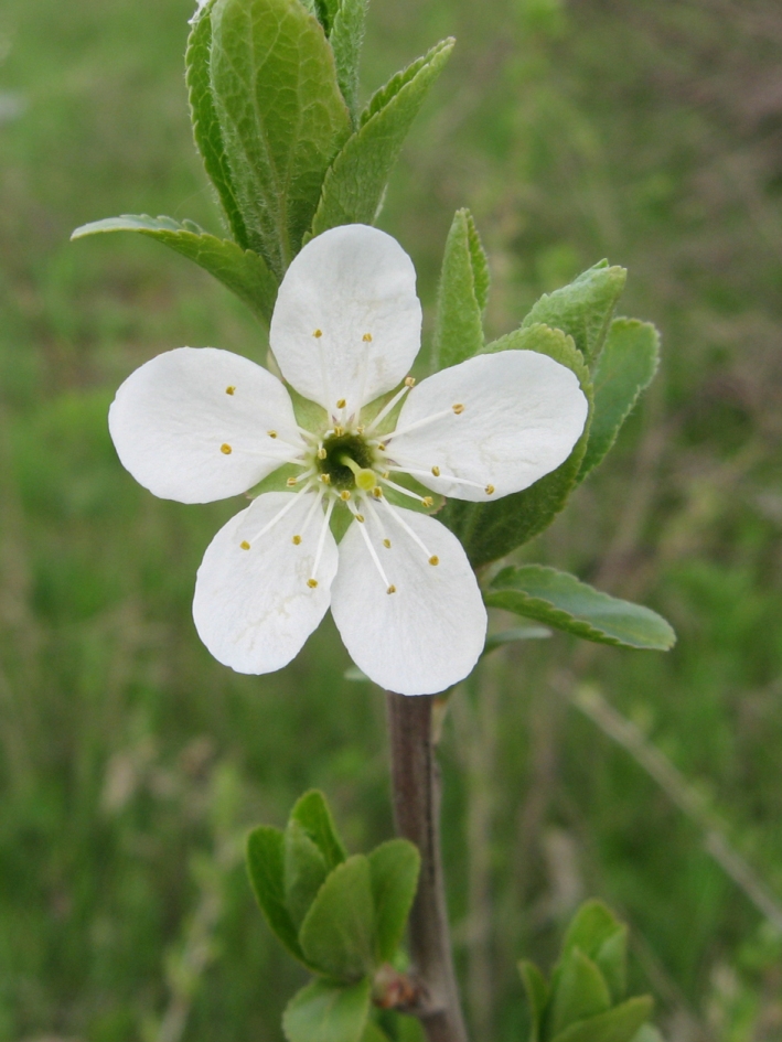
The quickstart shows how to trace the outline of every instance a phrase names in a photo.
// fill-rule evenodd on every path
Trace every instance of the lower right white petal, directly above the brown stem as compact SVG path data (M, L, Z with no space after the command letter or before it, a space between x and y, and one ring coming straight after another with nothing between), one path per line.
M399 695L433 695L463 679L478 662L486 610L461 544L444 525L399 511L428 552L388 517L385 533L366 527L396 592L388 593L357 522L340 544L331 610L355 664ZM384 535L392 547L383 546ZM436 555L439 563L429 563Z

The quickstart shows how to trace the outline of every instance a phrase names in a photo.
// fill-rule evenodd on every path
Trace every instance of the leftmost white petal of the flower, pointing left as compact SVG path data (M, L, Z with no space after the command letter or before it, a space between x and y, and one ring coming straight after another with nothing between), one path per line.
M277 377L214 347L178 347L131 373L109 430L133 477L180 503L246 492L304 445Z

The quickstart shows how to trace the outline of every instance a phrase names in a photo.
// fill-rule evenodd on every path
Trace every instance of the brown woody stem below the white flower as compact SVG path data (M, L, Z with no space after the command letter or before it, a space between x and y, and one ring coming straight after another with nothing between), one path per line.
M418 1007L429 1042L467 1042L453 969L440 857L440 773L432 741L432 699L388 692L394 820L421 855L410 914L410 954L421 987Z

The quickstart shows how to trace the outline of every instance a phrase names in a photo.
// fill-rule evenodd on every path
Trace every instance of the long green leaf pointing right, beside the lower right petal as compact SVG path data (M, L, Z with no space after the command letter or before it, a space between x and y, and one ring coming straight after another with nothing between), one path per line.
M537 619L599 644L667 652L676 642L668 623L651 609L609 597L543 565L504 568L484 600L490 608Z

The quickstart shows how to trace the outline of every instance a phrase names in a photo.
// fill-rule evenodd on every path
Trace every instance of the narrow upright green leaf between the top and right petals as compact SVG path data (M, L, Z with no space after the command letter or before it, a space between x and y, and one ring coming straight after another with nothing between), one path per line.
M483 347L489 265L469 210L459 210L446 241L437 294L435 369L471 358Z

